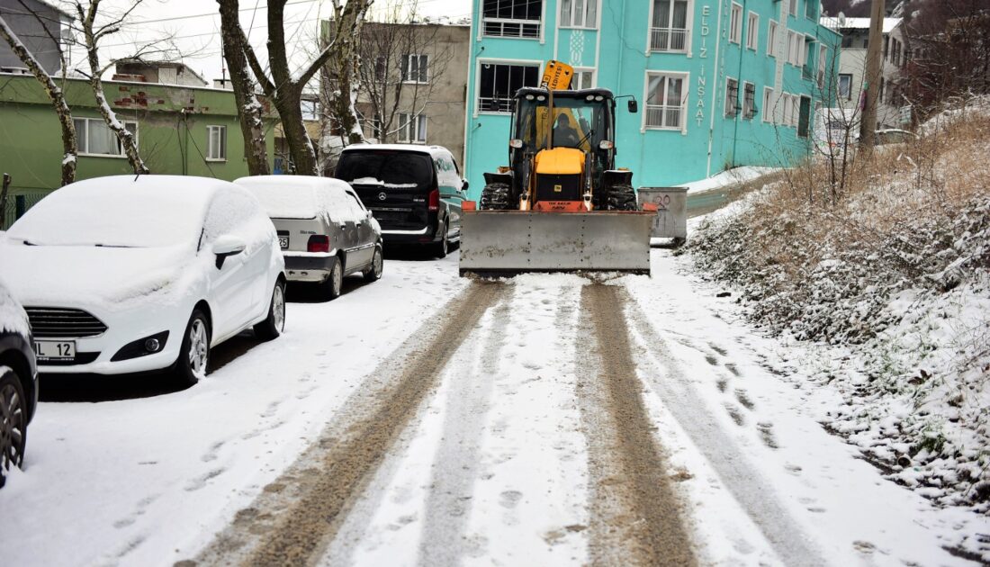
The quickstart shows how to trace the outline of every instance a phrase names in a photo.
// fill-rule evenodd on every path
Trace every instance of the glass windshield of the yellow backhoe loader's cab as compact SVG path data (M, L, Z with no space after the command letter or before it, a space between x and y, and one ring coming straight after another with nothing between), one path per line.
M516 138L530 151L545 149L552 125L553 147L597 149L599 142L612 140L611 103L602 95L555 94L550 118L545 95L527 94L519 101Z

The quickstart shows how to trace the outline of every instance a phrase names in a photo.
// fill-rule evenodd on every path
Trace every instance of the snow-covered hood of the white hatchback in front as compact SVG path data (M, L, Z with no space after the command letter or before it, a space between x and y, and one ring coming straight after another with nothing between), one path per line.
M0 265L22 305L78 306L119 312L170 303L190 277L185 245L149 248L29 246L0 242ZM197 271L197 270L192 270Z

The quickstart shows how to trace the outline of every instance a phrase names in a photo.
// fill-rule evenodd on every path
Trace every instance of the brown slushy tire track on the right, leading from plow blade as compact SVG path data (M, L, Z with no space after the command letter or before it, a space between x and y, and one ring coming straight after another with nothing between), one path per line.
M589 361L578 382L591 473L595 565L696 565L681 503L651 431L616 286L581 292ZM579 339L580 340L580 339Z

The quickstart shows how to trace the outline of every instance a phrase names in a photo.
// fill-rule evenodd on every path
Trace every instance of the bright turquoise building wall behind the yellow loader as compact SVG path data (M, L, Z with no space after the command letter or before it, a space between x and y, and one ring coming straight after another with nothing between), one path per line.
M787 31L802 35L802 48L825 45L830 52L839 36L819 25L818 14L806 13L800 0L796 16L786 14L788 2L779 0L693 0L688 4L687 29L690 39L680 52L649 49L653 2L643 0L600 0L597 22L591 29L558 25L559 2L545 0L539 37L500 38L485 33L482 16L484 0L474 0L471 35L471 66L468 88L468 121L465 129L467 173L471 197L483 187L482 174L508 160L510 115L487 112L477 104L482 65L491 63L531 63L542 65L558 59L594 72L594 85L612 90L617 96L633 95L640 101L640 114L629 114L625 101L617 112L616 165L634 171L636 186L670 186L703 179L737 165L791 165L811 151L810 137L799 137L797 129L781 122L781 93L812 99L812 111L822 102L816 84L817 57L809 57L810 73L785 61ZM733 4L743 8L742 41L730 41ZM748 15L758 17L757 46L745 46ZM779 23L777 42L768 47L769 21ZM829 56L831 65L838 59ZM647 128L644 122L647 73L674 72L685 77L683 128ZM831 73L831 74L834 74ZM727 79L755 87L757 113L727 117L724 109ZM762 108L763 89L774 90L771 108ZM830 102L831 101L826 101ZM769 118L769 122L764 121Z

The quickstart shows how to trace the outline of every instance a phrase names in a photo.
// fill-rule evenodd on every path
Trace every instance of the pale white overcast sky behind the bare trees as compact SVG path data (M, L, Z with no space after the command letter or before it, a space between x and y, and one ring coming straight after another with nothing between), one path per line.
M68 8L61 0L51 4ZM431 18L459 19L471 14L471 0L375 0L379 12L388 5L403 8L418 6L418 11ZM101 10L108 15L119 13L133 5L133 0L103 0ZM251 44L263 57L264 41L268 33L265 19L266 0L241 0L241 21L249 32ZM71 9L66 9L72 12ZM285 9L285 36L290 53L297 65L305 63L312 52L317 37L319 21L333 13L330 0L288 0ZM220 78L224 62L220 50L220 16L214 0L144 0L132 14L132 22L121 33L104 40L105 53L124 56L136 42L148 42L165 36L173 36L175 44L186 53L183 62L204 79ZM103 55L106 57L107 55ZM73 53L76 67L83 63L83 55Z

